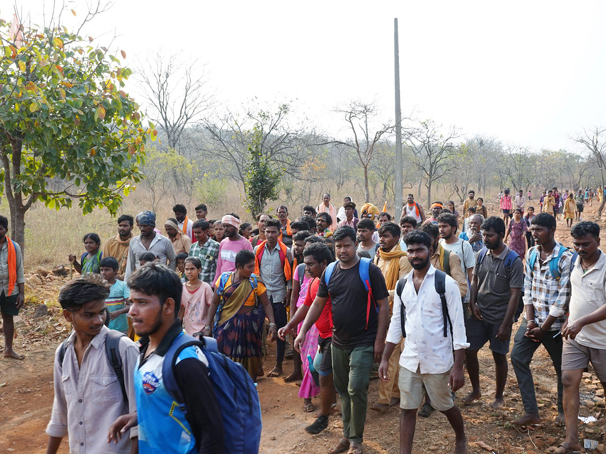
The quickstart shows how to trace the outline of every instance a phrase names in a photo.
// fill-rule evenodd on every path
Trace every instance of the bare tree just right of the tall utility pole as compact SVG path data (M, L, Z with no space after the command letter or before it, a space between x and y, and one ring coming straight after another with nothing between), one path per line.
M455 140L460 136L461 133L456 127L450 127L443 133L442 125L436 125L433 120L421 122L418 127L408 130L404 136L415 156L413 162L425 179L427 206L431 205L433 182L441 179L450 170L447 163L458 153L458 143Z

